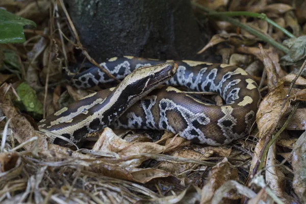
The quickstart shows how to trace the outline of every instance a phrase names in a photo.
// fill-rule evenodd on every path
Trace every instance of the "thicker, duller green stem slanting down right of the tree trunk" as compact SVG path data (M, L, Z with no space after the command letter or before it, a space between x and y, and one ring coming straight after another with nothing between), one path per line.
M215 11L212 11L210 9L207 9L205 7L203 7L202 5L200 4L197 4L197 3L192 3L194 6L196 6L197 8L199 8L200 10L208 13L209 15L211 14L214 14L214 16L220 20L224 20L224 21L227 21L227 22L230 22L232 23L233 25L236 25L237 27L239 28L242 28L244 30L246 30L247 32L249 32L250 34L262 39L263 41L273 45L274 47L282 50L284 53L288 54L289 53L289 49L282 45L281 43L278 43L276 42L273 38L271 38L270 36L268 35L265 35L264 33L256 30L256 29L253 29L252 27L250 27L249 25L245 24L245 23L242 23L240 22L239 20L236 20L234 18L231 18L231 17L228 17L224 14L220 14L222 12L215 12Z

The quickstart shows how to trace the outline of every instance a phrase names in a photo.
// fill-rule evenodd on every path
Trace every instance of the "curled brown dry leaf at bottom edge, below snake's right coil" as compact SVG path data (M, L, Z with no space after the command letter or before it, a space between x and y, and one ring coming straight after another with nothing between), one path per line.
M224 158L221 162L212 168L209 180L207 184L202 188L201 204L210 203L216 190L220 188L225 182L230 180L235 181L237 179L237 169L234 168L226 158ZM222 197L226 197L228 199L238 199L240 196L237 196L237 194L233 192L227 192L226 194L222 194ZM224 199L222 201L226 202Z

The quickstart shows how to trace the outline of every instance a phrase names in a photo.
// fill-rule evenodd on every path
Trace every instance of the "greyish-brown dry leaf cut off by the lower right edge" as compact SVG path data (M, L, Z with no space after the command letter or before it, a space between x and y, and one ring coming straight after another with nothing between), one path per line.
M292 167L294 192L302 202L306 202L306 132L295 143Z

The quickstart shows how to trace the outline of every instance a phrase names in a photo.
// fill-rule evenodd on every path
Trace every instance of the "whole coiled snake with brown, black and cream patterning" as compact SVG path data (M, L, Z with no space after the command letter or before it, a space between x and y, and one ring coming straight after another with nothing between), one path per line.
M117 79L126 79L127 76L132 81L124 79L116 88L93 93L59 110L39 122L40 130L48 135L62 135L75 143L84 139L86 133L96 132L105 126L117 129L167 130L197 143L217 146L248 135L256 118L260 103L258 86L249 74L237 66L188 60L173 63L132 56L110 58L100 66ZM144 89L146 80L156 80L158 73L165 67L168 72L169 67L172 67L170 72L177 69L166 82L167 86L158 87L147 95L143 94L144 97L137 94L135 96L136 90ZM136 73L134 70L139 69L146 71L139 72L137 79L133 80L133 74ZM78 74L68 71L68 76L77 88L89 88L113 81L98 67L91 67ZM140 80L141 78L146 80ZM164 79L168 78L169 75ZM132 86L126 83L136 86L131 89ZM216 92L223 98L224 105L204 103L172 86ZM118 89L121 95L110 102L108 98L112 98L114 91ZM135 98L135 104L131 106L129 102L125 106L126 98L130 97ZM101 107L106 110L103 117L96 114ZM56 136L50 136L50 142L61 145L67 143Z

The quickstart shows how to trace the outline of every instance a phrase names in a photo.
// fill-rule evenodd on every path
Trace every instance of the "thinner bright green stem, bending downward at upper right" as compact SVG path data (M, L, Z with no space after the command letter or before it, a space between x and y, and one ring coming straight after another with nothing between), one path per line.
M249 17L254 17L254 18L260 18L262 20L267 21L271 25L273 25L275 28L278 30L281 30L285 35L287 35L289 38L295 38L295 36L281 27L279 24L271 20L270 18L267 17L266 14L264 13L252 13L248 11L230 11L230 12L216 12L216 13L209 13L209 16L215 16L215 15L225 15L225 16L249 16Z

